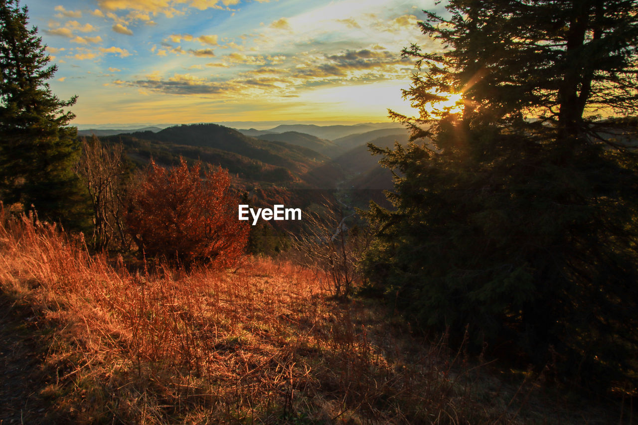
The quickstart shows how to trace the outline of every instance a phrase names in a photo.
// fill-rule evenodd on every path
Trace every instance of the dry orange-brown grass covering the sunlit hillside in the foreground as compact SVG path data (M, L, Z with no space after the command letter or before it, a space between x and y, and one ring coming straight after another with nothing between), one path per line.
M47 420L479 424L519 414L508 405L516 388L477 380L462 353L413 338L378 307L330 299L327 277L310 269L249 259L237 271L130 272L33 219L1 222L3 292L53 330Z

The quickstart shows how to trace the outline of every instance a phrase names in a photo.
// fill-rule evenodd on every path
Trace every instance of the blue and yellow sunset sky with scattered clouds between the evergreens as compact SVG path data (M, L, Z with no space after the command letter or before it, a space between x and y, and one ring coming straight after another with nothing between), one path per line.
M389 121L433 0L22 0L73 124Z

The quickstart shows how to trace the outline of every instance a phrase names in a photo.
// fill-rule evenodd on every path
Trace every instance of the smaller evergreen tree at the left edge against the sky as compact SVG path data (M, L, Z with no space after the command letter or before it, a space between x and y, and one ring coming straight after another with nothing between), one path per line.
M85 197L73 163L80 152L75 116L51 93L50 64L37 28L27 29L27 8L0 0L0 197L33 208L40 218L78 225Z

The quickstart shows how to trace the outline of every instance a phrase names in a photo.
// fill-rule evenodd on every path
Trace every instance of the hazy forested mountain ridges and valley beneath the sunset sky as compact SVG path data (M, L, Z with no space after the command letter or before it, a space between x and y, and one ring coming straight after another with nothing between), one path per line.
M317 190L392 188L392 174L380 167L380 158L372 156L366 144L391 147L408 140L408 132L396 123L281 124L267 131L218 124L78 131L80 136L87 133L107 144L122 143L137 167L151 158L167 166L180 156L201 160L227 168L237 186L260 198L259 204L292 200L297 205L318 203ZM315 192L304 192L308 190ZM366 196L360 197L359 205L367 204Z

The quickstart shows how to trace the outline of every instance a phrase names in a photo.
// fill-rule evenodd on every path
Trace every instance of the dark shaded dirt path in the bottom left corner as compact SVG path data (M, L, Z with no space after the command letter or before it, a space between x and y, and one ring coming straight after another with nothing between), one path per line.
M0 292L0 424L43 423L42 355L27 306Z

